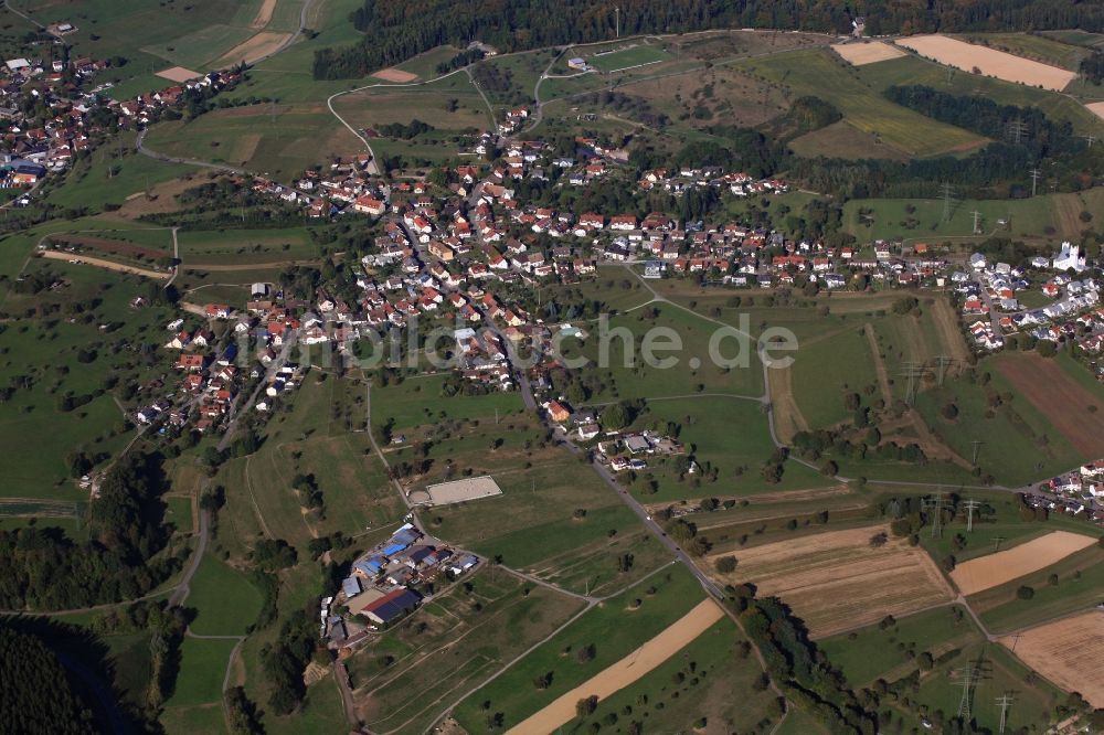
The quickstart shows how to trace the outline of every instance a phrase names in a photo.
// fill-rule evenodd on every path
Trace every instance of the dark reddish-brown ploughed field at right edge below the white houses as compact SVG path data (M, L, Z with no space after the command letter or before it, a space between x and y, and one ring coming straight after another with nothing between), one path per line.
M1104 414L1089 411L1097 398L1057 361L1019 352L998 361L997 370L1085 459L1104 456Z

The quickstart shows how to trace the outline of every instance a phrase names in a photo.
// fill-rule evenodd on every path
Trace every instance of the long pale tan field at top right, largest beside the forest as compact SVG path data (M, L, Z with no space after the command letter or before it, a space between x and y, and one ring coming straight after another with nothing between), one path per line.
M896 43L915 51L921 56L964 72L973 73L976 68L985 76L995 76L1005 82L1016 82L1031 87L1061 92L1076 78L1076 74L1064 68L1040 64L945 35L913 35L899 39Z

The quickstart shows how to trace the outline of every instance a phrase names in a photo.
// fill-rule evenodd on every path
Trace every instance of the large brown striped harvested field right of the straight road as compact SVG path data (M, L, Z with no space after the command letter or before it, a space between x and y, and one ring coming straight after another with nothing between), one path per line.
M832 531L736 551L725 583L752 583L794 608L813 638L825 638L954 598L935 563L905 539L870 545L888 525ZM718 556L707 564L713 567ZM728 555L728 554L723 554Z

